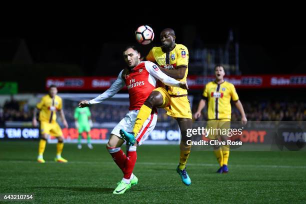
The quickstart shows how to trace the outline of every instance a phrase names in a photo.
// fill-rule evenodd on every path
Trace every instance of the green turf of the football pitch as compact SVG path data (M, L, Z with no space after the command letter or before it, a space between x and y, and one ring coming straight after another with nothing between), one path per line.
M133 171L138 184L114 195L122 173L105 145L79 150L65 144L68 163L53 161L55 144L46 146L47 163L37 163L37 146L37 141L0 142L0 193L34 193L35 203L306 202L305 151L231 152L227 174L215 173L212 152L192 151L187 166L192 184L185 186L175 171L178 146L142 145Z

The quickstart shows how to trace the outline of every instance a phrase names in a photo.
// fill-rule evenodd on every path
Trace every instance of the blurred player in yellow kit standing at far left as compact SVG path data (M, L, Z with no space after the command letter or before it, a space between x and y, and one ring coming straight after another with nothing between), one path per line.
M39 121L41 138L39 141L37 157L37 161L40 163L45 162L43 159L43 152L45 149L46 139L48 135L56 136L58 140L56 145L56 157L54 158L54 160L57 162L67 162L66 159L61 157L61 152L63 148L63 135L58 123L56 122L56 111L60 112L61 120L66 128L68 127L68 124L62 110L61 98L57 96L56 93L56 86L51 85L49 87L49 94L41 98L40 102L37 103L33 113L33 126L37 126L36 111L37 109L39 109L40 111Z

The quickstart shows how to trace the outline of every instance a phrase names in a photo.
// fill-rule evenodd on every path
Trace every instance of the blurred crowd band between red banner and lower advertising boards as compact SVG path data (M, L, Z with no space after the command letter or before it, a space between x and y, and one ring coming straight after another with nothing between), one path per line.
M304 101L242 101L246 117L249 121L301 121L306 120L306 102ZM64 113L69 123L74 122L74 110L76 105L64 104ZM197 103L193 104L192 112L197 108ZM93 122L119 122L126 112L128 105L97 104L90 107ZM31 121L33 107L26 101L17 101L13 97L0 106L0 122L5 121ZM207 109L204 108L198 120L207 120ZM240 113L232 105L232 121L240 120ZM165 110L158 108L158 122L175 122L165 114Z

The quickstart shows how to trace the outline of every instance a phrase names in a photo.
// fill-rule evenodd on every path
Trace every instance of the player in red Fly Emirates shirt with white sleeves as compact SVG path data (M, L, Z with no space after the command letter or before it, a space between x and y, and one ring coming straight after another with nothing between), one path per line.
M167 76L161 70L159 70L158 66L153 62L140 61L140 53L133 46L128 46L124 49L123 57L129 68L121 70L117 79L105 92L92 100L84 100L78 104L79 107L86 107L90 104L102 102L103 100L112 97L124 85L127 86L129 94L129 111L126 113L125 117L121 119L121 121L113 128L110 133L108 143L106 144L106 148L112 156L114 162L123 172L122 180L118 182L118 186L113 191L115 194L124 193L131 187L131 185L137 184L138 182L138 178L132 173L137 159L136 145L137 143L140 145L154 129L157 121L156 110L152 111L149 117L146 119L142 129L135 137L137 142L135 142L134 145L129 146L126 155L120 149L120 146L124 143L124 140L121 138L119 130L132 130L139 108L155 88L157 79L168 86L188 89L186 82L178 81Z

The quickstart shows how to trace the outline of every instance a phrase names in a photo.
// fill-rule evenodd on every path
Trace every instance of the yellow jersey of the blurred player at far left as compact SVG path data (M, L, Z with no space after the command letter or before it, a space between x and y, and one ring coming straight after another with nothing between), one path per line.
M40 110L39 120L45 122L56 121L56 111L62 108L61 97L55 95L51 98L49 94L44 95L36 107Z

